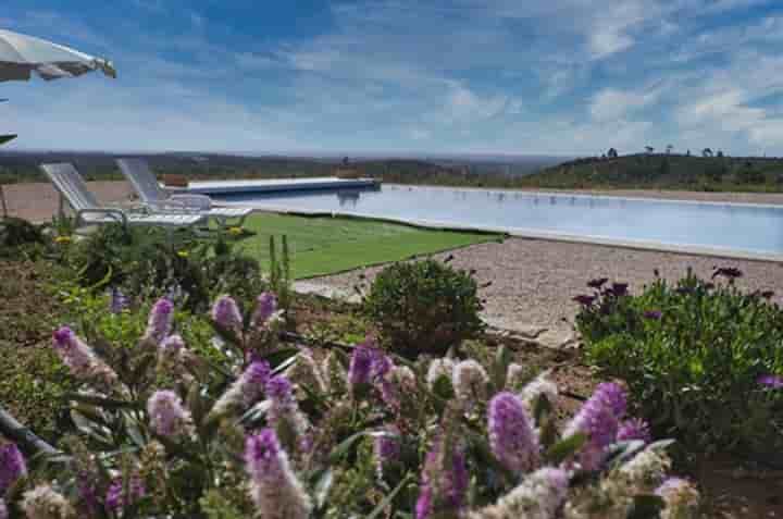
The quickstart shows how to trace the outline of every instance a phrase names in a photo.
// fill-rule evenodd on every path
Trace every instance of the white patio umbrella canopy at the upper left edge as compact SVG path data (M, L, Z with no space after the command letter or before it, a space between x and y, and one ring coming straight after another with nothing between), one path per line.
M116 77L110 61L40 38L0 29L0 82L28 81L35 72L51 81L91 71Z

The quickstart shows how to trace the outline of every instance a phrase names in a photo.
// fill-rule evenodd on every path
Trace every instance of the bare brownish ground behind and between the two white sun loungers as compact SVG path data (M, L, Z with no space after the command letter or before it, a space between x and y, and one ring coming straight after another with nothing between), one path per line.
M126 182L88 182L87 186L101 202L130 200L134 193ZM10 217L46 222L58 212L60 197L51 184L10 184L1 187Z

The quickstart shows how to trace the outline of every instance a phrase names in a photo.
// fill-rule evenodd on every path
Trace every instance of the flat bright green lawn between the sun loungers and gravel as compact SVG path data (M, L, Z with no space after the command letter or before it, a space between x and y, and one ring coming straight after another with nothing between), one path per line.
M270 236L286 235L296 279L502 239L497 234L424 230L375 220L269 213L248 218L245 227L258 234L243 239L237 247L259 258L262 264L269 261Z

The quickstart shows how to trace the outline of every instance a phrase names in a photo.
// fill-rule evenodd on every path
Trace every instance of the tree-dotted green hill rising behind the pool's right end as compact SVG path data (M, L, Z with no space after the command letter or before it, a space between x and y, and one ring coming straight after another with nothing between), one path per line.
M783 159L629 155L576 159L520 178L547 188L783 190Z

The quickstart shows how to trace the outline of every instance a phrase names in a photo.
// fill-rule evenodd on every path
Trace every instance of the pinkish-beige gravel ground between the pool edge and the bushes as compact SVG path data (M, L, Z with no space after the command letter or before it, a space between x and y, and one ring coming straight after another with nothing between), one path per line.
M639 291L654 280L655 269L662 277L674 281L685 274L688 267L701 276L711 275L716 265L737 267L745 273L737 281L738 286L775 291L775 300L783 302L779 297L783 296L783 263L523 238L474 245L436 258L449 255L455 257L453 267L474 269L480 283L492 283L482 291L486 299L485 317L500 328L518 328L521 323L570 330L577 310L571 298L587 293L588 280L609 277L630 283L632 291ZM370 281L380 270L381 267L374 267L311 281L351 288L361 282L361 274Z

